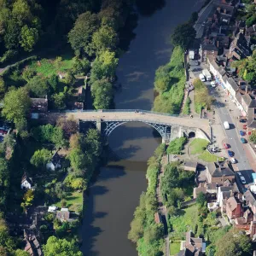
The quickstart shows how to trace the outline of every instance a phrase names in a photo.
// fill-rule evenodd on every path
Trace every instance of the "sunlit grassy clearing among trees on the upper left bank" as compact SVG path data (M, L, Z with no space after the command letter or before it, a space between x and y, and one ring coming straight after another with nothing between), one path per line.
M40 61L41 66L38 66L38 61L32 61L29 65L38 74L43 74L44 77L49 77L52 74L57 74L58 72L65 72L72 67L72 56L61 55L62 61L59 67L55 67L54 59L43 59Z

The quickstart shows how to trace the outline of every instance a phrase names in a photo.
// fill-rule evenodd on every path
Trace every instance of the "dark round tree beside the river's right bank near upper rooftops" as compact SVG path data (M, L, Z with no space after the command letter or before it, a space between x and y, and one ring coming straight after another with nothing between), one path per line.
M178 25L172 33L171 42L174 46L181 46L183 49L187 49L189 43L195 39L195 28L192 24L184 23Z

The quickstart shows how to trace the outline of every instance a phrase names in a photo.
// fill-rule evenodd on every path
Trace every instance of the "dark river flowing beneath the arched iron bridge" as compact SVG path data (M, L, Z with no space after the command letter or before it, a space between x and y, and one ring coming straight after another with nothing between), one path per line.
M119 59L117 76L121 87L115 96L115 108L153 107L154 73L170 59L170 35L203 2L166 0L165 6L153 15L139 15L136 37ZM120 160L102 168L89 189L82 227L84 255L137 255L136 246L127 239L127 234L139 197L147 189L147 160L160 142L153 129L141 123L120 125L112 132L109 145Z

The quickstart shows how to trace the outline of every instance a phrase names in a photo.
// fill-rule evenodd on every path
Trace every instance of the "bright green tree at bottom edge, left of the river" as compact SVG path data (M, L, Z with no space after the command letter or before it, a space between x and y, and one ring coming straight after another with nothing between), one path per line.
M55 236L48 238L46 245L43 246L43 251L45 256L83 256L76 241L67 241Z

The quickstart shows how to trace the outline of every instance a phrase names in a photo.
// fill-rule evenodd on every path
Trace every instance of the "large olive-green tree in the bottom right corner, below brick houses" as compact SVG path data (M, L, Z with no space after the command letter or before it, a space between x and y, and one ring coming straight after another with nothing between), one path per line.
M216 256L240 256L251 255L251 253L251 241L241 230L231 229L217 241Z

